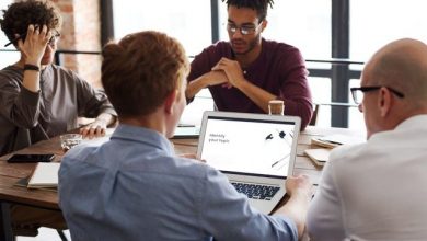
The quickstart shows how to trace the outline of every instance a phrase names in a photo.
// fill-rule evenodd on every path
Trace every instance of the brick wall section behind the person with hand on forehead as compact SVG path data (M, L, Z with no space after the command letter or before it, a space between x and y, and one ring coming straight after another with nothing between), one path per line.
M58 49L101 51L99 0L51 0L60 9L64 24ZM61 64L96 88L101 88L100 55L61 55Z

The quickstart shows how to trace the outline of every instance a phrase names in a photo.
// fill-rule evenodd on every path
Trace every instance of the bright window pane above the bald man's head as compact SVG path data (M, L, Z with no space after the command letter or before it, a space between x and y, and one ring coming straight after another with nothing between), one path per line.
M425 0L350 0L350 58L366 61L403 37L427 42L426 9Z

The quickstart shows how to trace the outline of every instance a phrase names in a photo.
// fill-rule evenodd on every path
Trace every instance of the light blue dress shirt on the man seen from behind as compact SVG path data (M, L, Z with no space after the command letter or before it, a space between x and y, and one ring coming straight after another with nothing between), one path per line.
M59 205L73 241L298 240L292 220L256 211L219 171L128 125L100 147L68 151Z

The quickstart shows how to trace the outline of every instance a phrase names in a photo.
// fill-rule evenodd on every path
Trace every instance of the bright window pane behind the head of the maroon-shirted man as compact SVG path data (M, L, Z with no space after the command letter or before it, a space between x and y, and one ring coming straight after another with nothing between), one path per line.
M220 38L228 41L226 3L219 3L219 12ZM265 38L296 46L304 58L331 56L331 0L275 1L267 21Z

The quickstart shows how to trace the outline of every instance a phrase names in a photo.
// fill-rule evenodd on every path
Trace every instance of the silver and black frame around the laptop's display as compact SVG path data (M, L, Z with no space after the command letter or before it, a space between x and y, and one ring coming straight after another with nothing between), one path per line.
M218 112L218 111L207 111L204 113L200 126L200 135L197 146L197 158L201 158L201 152L204 150L204 142L206 137L207 123L209 119L234 119L243 122L253 122L262 120L264 123L280 123L280 124L290 124L293 125L293 141L291 147L291 152L289 156L289 168L287 175L269 175L262 173L251 173L251 172L235 172L235 171L223 171L219 170L222 173L239 174L239 175L252 175L261 177L274 177L274 179L286 179L289 175L292 175L296 157L297 157L297 142L300 133L301 118L298 116L281 116L281 115L267 115L267 114L254 114L254 113L236 113L236 112ZM206 160L209 164L209 160Z

